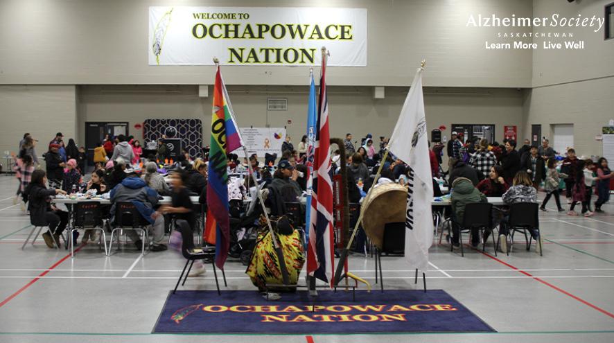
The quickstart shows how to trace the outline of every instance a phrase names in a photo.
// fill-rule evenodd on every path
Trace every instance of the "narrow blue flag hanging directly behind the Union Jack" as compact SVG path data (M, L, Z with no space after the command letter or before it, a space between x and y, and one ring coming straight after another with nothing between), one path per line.
M307 109L307 155L305 157L307 166L307 206L305 213L305 248L309 242L309 229L311 227L311 186L313 184L313 152L315 143L315 124L317 121L317 106L315 103L315 82L313 82L313 72L310 73L311 85L309 87L309 107Z

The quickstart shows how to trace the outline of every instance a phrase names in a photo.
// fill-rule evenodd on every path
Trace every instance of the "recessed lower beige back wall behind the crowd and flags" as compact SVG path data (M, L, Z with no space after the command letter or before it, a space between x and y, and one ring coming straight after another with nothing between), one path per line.
M166 89L166 91L165 91ZM330 87L328 104L331 134L344 137L347 132L360 141L368 132L374 137L392 134L403 106L407 87L386 87L384 99L374 99L372 87ZM523 96L516 89L442 89L425 90L428 129L450 124L495 124L495 137L503 136L503 125L518 125L522 134ZM307 87L229 87L238 125L247 127L287 126L298 143L305 132ZM267 111L267 97L288 99L288 111ZM86 121L130 121L130 133L139 137L134 123L146 118L202 118L204 141L209 142L211 98L198 98L193 86L87 86L79 89L80 141L85 141ZM288 120L292 124L288 125Z

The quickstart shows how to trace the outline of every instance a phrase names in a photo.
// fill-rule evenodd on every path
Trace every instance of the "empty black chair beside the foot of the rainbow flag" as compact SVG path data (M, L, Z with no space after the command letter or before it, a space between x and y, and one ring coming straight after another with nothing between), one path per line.
M179 282L183 278L184 281L182 285L186 284L186 280L188 279L188 274L190 274L190 270L192 270L192 265L194 265L194 261L202 260L203 263L211 263L213 267L213 276L216 278L216 288L218 288L218 295L221 295L220 292L220 283L218 282L218 273L216 272L216 247L202 247L195 248L194 247L194 236L192 234L192 230L188 227L188 225L177 227L176 229L182 235L182 255L186 258L186 265L184 265L184 269L182 270L181 275L179 275L179 279L177 280L177 284L175 285L175 289L173 290L173 294L177 292L177 287L179 287ZM188 264L190 267L188 267ZM186 272L186 268L188 271ZM184 276L185 274L185 276ZM226 274L222 269L222 276L224 277L224 285L227 286L226 283Z

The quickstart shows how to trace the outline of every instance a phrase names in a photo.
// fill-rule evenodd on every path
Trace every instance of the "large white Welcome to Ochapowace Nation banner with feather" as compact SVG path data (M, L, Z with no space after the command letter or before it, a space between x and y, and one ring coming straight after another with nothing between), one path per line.
M150 65L367 66L366 8L150 7Z

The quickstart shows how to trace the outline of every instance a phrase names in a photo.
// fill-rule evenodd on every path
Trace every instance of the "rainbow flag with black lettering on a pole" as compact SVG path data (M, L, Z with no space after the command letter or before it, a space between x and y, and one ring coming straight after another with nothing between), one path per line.
M243 146L220 66L213 87L211 115L211 150L209 150L209 179L207 182L207 226L204 238L216 244L216 265L223 269L230 247L230 219L228 213L227 154Z

